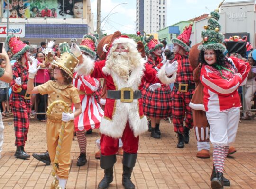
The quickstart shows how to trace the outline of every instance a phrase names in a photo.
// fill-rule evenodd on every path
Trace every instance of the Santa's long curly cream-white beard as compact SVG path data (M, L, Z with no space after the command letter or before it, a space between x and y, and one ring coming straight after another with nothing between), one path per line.
M130 71L134 68L132 61L129 59L127 52L113 52L113 56L110 58L112 69L124 80L128 80L130 77Z

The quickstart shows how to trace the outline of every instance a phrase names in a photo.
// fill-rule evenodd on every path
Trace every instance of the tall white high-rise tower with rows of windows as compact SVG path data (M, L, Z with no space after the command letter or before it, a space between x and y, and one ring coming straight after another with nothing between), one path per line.
M157 33L166 26L167 0L136 0L136 30Z

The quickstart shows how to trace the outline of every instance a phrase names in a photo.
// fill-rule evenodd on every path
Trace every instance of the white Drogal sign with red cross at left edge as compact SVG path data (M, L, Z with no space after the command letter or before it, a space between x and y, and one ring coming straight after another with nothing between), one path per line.
M25 37L25 24L9 24L7 31L6 24L0 24L0 37L6 37L6 34L14 34L15 36Z

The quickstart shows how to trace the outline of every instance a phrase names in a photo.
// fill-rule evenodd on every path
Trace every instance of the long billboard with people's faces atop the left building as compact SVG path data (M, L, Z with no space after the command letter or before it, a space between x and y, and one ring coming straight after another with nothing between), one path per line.
M3 6L3 17L9 18L83 17L83 0L9 0L9 8L4 0Z

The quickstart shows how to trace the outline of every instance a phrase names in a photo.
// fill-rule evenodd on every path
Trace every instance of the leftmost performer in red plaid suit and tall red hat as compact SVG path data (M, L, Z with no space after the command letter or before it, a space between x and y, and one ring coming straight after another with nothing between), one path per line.
M28 64L30 59L29 45L23 43L19 37L9 35L6 38L9 48L17 60L13 65L13 79L11 82L12 93L10 95L10 106L13 112L15 146L14 154L20 159L30 157L24 146L27 141L29 129L29 114L31 111L30 94L27 94Z

